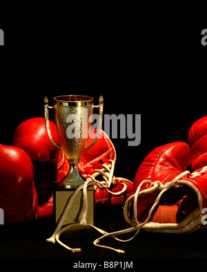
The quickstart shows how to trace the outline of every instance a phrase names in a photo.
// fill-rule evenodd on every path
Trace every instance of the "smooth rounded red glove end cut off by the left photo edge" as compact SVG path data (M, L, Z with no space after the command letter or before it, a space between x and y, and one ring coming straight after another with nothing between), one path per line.
M19 147L0 145L0 207L5 224L23 224L35 218L37 193L32 161Z

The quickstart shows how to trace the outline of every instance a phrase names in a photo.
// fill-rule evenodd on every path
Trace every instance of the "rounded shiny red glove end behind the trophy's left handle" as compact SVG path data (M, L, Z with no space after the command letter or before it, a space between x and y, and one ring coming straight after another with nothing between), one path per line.
M59 138L55 123L50 121L50 130L55 143ZM44 118L31 118L21 123L14 132L14 145L20 147L32 160L47 162L55 160L59 150L52 145Z

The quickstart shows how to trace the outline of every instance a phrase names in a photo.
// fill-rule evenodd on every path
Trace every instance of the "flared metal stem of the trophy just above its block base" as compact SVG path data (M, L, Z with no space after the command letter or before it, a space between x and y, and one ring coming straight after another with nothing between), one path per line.
M81 177L81 174L77 168L77 164L78 163L70 163L70 170L68 171L67 176L61 180L59 185L60 187L66 189L75 189L86 181L85 178Z

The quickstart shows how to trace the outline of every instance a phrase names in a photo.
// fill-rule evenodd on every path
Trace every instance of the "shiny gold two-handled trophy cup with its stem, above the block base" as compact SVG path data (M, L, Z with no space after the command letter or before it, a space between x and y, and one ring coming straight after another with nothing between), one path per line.
M67 95L54 98L54 107L48 105L48 98L44 100L45 120L48 136L52 145L63 152L70 163L68 174L61 180L60 186L68 189L81 185L85 179L79 174L77 165L83 151L95 144L101 129L103 117L103 98L99 98L99 105L93 105L93 98L90 96ZM92 114L94 108L99 108L99 122L97 125L97 134L92 143L87 146L92 124ZM48 110L54 108L55 125L59 136L59 147L52 138L49 125Z

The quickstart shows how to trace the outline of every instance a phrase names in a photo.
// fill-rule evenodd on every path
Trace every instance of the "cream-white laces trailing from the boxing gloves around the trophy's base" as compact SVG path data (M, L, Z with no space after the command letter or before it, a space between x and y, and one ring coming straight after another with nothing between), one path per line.
M63 233L64 231L66 231L70 227L75 226L75 224L70 224L66 227L63 227L63 229L61 229L63 222L65 221L66 216L68 215L68 211L70 210L72 203L75 200L75 197L77 196L77 193L81 189L83 189L83 215L82 215L80 224L93 227L94 229L99 231L101 234L103 234L103 236L101 236L100 238L97 238L93 242L93 244L95 244L96 247L100 247L103 249L111 249L111 250L117 251L118 253L125 253L125 251L123 251L121 249L114 249L112 247L107 247L107 246L99 244L99 242L107 237L115 238L116 240L118 240L120 242L128 242L128 241L132 240L133 238L135 238L135 236L137 236L137 234L139 233L139 230L142 227L144 227L144 225L150 220L150 218L152 216L152 212L155 210L155 207L157 207L161 196L166 191L168 191L168 189L170 189L172 186L175 186L176 182L180 178L182 178L183 176L189 176L189 174L190 174L189 171L184 171L179 176L177 176L174 180L166 183L166 185L163 185L159 181L151 182L150 180L143 180L139 184L139 187L137 187L137 191L135 192L135 194L130 196L130 198L128 198L128 200L126 200L126 207L128 207L129 203L132 202L132 200L134 200L133 209L134 209L134 216L135 216L135 227L130 227L128 229L124 229L121 231L114 231L112 233L107 233L106 231L103 231L102 229L99 229L99 228L93 226L92 224L87 224L87 222L86 222L87 211L88 211L87 187L91 186L91 185L95 185L95 186L99 187L99 189L106 189L106 191L108 191L108 193L112 193L112 194L116 194L116 195L119 195L120 193L123 193L124 191L126 191L126 184L124 184L124 183L122 183L123 189L117 193L113 193L112 191L108 190L108 188L110 188L112 183L115 182L115 180L114 180L115 177L113 176L113 172L114 172L114 168L115 168L115 161L111 160L110 163L111 163L111 165L103 165L103 169L97 170L97 173L95 175L90 176L90 178L88 180L86 180L86 182L84 182L83 185L80 185L76 189L76 191L72 194L72 197L70 198L70 201L68 202L68 205L66 206L66 209L63 212L63 215L61 216L61 220L59 220L59 224L57 225L55 232L52 234L51 238L47 239L48 242L55 243L55 240L57 240L57 242L59 242L59 244L61 244L66 249L68 249L72 252L81 252L81 249L79 249L79 248L72 249L72 248L68 247L66 244L63 244L63 242L61 242L59 240L59 237L61 236L61 233ZM98 181L95 179L95 177L98 176L99 174L101 174L101 176L103 176L103 179L104 179L103 181ZM150 187L148 189L140 191L141 186L144 184L148 184L148 185L150 185ZM139 223L137 220L137 200L138 200L138 197L143 193L152 193L153 191L156 191L156 190L159 190L160 192L159 192L154 204L152 205L152 207L148 213L148 218L146 218L146 220L144 222ZM130 218L128 218L128 219L130 220ZM136 233L134 236L132 236L132 238L129 238L128 240L121 240L121 239L118 239L117 237L115 237L115 236L120 236L122 234L130 233L132 231L136 231Z

